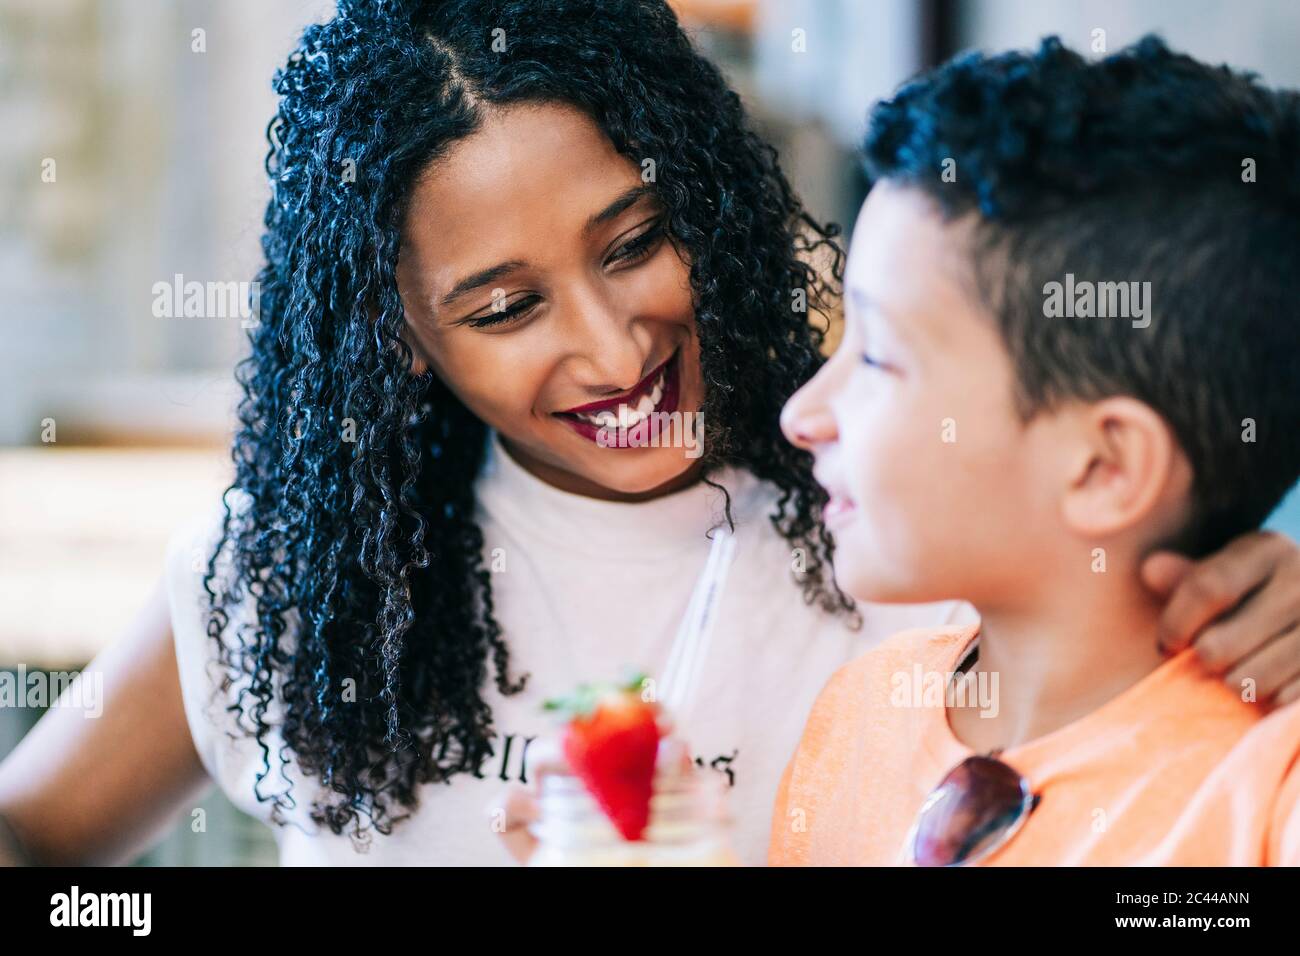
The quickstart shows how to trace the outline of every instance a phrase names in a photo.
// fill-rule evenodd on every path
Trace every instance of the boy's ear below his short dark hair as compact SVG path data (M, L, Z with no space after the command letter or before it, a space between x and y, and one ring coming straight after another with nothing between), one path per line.
M1115 397L1088 405L1075 421L1079 454L1061 509L1082 537L1101 538L1156 518L1191 488L1191 467L1174 433L1150 406Z

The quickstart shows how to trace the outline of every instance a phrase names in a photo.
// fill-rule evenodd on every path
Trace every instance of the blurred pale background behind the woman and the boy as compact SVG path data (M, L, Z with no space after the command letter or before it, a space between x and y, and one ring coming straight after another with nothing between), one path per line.
M174 277L248 282L273 70L326 0L0 7L0 670L87 663L228 483L240 317L155 315ZM814 215L852 229L871 101L958 49L1148 31L1300 87L1296 0L675 0ZM1300 537L1300 499L1271 522ZM0 708L0 757L39 718ZM218 792L142 864L274 864Z

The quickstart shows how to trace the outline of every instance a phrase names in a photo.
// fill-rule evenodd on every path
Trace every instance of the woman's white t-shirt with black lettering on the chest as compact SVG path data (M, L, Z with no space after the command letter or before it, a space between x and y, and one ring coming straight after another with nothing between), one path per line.
M495 434L476 486L484 561L497 620L511 653L511 675L530 674L523 693L503 697L489 680L497 737L477 774L425 784L420 805L387 836L361 852L344 834L311 822L317 778L292 758L277 761L263 795L292 782L295 808L274 826L283 865L490 865L510 862L493 830L490 804L520 780L528 741L554 735L542 713L547 697L582 680L614 679L636 666L662 671L708 558L707 532L724 522L723 496L697 484L640 503L585 498L545 484L519 466ZM827 679L845 662L896 631L967 619L967 606L864 605L863 627L803 602L793 580L796 555L768 520L777 489L731 470L715 477L732 496L734 561L715 606L707 657L679 731L712 773L732 784L732 843L745 864L766 860L776 786L794 752L805 717ZM263 765L256 741L225 711L234 691L220 692L221 670L205 631L202 579L220 531L214 512L178 529L168 548L168 596L186 718L208 774L242 810L269 818L254 795ZM500 549L499 551L497 549ZM503 566L502 566L503 562ZM240 619L247 609L235 609ZM247 618L243 618L247 619ZM268 719L277 719L273 708ZM242 724L248 726L247 719Z

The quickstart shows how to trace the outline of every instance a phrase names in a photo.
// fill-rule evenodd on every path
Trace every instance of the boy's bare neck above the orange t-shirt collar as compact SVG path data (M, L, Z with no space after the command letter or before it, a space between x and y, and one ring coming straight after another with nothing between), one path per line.
M997 706L948 709L953 734L972 750L1006 749L1050 734L1164 662L1156 646L1162 605L1140 585L1136 568L1066 584L1035 588L1030 606L978 609L979 659L970 679L980 671L997 674Z

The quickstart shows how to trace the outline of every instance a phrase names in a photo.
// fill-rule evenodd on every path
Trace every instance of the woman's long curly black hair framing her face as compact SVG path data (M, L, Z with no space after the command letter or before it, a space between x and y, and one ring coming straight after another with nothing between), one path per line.
M502 693L523 688L474 519L486 427L432 372L412 373L395 281L412 182L504 104L576 105L638 165L654 160L692 263L705 471L736 464L779 488L772 523L805 555L805 600L857 623L828 574L811 459L777 424L822 362L823 329L792 306L802 294L828 316L838 230L803 211L662 0L341 0L276 90L237 493L204 576L226 689L239 684L230 710L261 747L259 784L274 724L277 758L320 778L317 823L387 834L421 783L490 753L489 666ZM292 805L257 796L277 821Z

